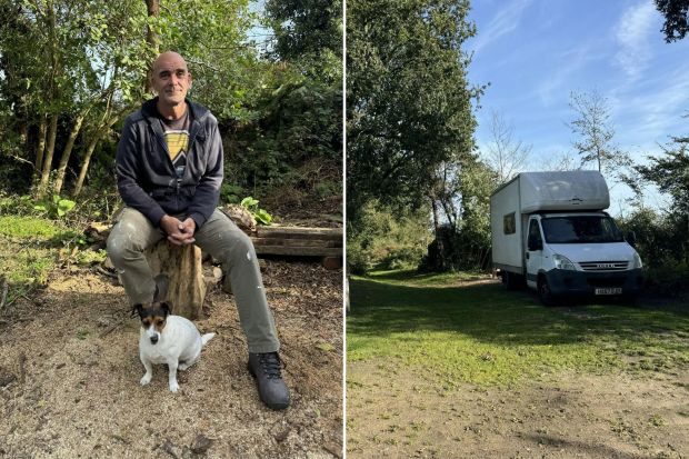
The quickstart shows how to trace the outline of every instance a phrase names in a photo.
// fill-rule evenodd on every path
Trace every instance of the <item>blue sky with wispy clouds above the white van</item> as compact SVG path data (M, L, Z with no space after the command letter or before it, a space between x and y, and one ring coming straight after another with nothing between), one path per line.
M570 92L608 99L613 142L642 161L669 136L689 134L689 38L666 43L652 0L473 0L478 34L469 80L490 82L477 112L479 147L490 141L491 110L532 146L527 169L575 156ZM593 166L591 164L591 168ZM626 211L630 191L613 184L610 211ZM663 207L650 192L647 203Z

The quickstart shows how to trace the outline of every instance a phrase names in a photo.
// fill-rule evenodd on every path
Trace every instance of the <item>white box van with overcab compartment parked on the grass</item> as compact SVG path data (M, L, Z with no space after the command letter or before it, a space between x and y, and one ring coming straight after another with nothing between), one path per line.
M518 174L490 197L493 268L508 288L526 280L545 305L577 293L633 298L641 259L609 206L598 171Z

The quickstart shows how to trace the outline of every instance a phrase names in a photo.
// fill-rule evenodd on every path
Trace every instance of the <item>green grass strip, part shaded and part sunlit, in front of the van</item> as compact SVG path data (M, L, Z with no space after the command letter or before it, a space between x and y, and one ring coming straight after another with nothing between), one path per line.
M411 271L352 278L348 360L375 360L392 371L401 365L449 386L689 363L686 306L545 308L527 291L496 283L458 286L467 277L480 278Z

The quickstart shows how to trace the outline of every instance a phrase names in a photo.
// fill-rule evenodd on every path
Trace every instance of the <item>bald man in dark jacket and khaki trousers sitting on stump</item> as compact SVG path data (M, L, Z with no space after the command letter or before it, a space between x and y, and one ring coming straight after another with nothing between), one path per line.
M162 238L177 246L197 243L220 260L230 276L259 396L269 408L284 409L290 398L280 342L253 245L216 209L223 160L218 121L187 99L191 73L180 54L160 54L150 78L158 97L127 118L118 144L118 190L126 208L108 238L108 255L132 306L153 300L156 282L143 251Z

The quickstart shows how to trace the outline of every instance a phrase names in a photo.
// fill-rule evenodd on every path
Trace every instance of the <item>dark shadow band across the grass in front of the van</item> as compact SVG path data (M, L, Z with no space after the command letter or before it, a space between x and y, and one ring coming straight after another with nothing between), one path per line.
M545 308L532 293L506 291L497 282L433 288L355 279L350 291L348 330L362 337L457 331L506 346L566 345L606 335L618 340L635 340L643 333L689 337L686 306L579 303Z

